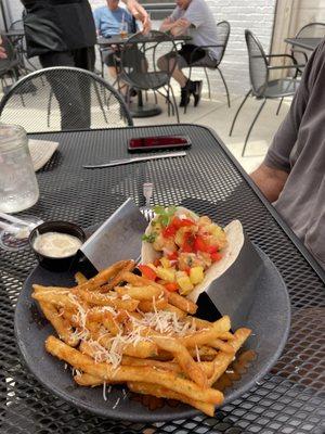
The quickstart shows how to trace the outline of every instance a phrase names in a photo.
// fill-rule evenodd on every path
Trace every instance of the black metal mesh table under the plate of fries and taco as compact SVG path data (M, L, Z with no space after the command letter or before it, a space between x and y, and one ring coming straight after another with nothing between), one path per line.
M185 158L86 170L84 163L126 156L127 139L186 133L193 148ZM22 366L13 332L20 290L36 261L28 250L1 251L0 432L1 433L324 433L324 280L302 255L290 232L263 204L218 139L191 125L35 135L60 141L58 151L38 174L40 200L28 209L49 219L82 227L107 218L128 196L143 204L142 184L155 183L154 201L182 203L212 213L225 224L239 218L250 239L281 271L289 290L292 323L285 352L272 372L214 418L146 425L113 421L79 411L46 391ZM295 241L295 240L294 240ZM300 251L301 248L301 251ZM315 266L315 265L314 265ZM316 267L316 266L315 266ZM272 330L270 330L272 333ZM4 380L5 379L5 380Z

